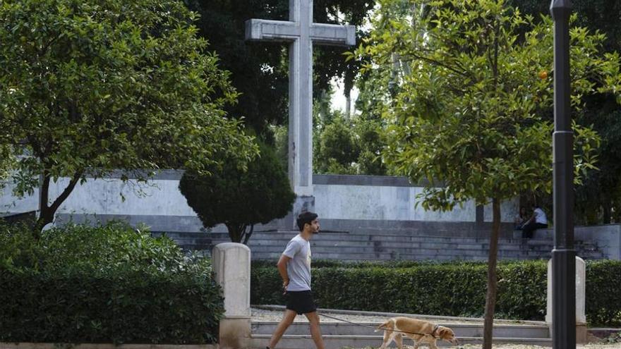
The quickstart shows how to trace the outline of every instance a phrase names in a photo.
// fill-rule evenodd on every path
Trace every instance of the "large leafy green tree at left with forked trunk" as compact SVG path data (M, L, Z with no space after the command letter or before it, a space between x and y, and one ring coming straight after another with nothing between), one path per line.
M203 172L217 154L255 153L222 111L236 92L195 19L176 0L2 3L0 144L21 156L18 194L42 191L36 235L87 176L146 180L143 169Z

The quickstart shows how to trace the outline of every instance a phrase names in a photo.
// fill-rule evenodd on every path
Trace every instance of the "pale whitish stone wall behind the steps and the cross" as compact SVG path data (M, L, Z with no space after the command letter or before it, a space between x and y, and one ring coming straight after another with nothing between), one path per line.
M127 219L145 222L155 231L199 231L200 221L179 192L181 171L162 171L149 183L123 183L121 173L109 178L88 180L76 185L71 196L59 209L62 221ZM68 183L61 178L51 184L50 197L56 197ZM390 176L313 176L315 211L322 219L342 226L347 221L408 221L469 222L491 221L490 208L477 209L474 202L456 207L451 212L432 212L416 206L416 195L423 188L411 185L407 178ZM30 197L16 200L11 188L0 197L0 212L25 212L36 209L38 190ZM16 202L15 205L11 204ZM479 212L477 212L479 211ZM505 202L502 221L512 221L517 202ZM222 227L215 231L223 231Z

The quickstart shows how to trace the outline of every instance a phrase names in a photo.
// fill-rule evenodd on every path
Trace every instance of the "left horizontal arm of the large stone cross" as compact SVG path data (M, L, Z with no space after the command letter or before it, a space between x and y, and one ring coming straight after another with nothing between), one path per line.
M300 37L300 27L287 20L246 20L246 40L293 41Z

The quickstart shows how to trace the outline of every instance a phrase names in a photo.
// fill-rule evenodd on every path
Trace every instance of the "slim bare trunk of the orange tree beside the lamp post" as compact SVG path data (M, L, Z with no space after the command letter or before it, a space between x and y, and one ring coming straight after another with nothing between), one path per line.
M488 293L486 295L485 322L483 324L483 349L492 348L494 308L496 306L496 264L498 262L498 235L500 235L500 200L492 200L493 228L488 257Z

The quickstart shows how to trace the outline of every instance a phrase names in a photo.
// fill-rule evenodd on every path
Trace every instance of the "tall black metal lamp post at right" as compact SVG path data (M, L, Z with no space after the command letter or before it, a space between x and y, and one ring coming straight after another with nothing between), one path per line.
M569 103L570 0L552 0L554 19L554 250L552 339L554 349L576 348L576 251L574 250L574 157Z

